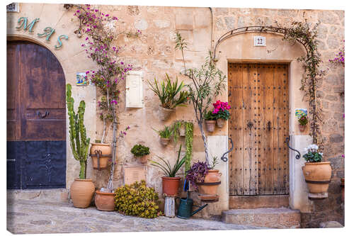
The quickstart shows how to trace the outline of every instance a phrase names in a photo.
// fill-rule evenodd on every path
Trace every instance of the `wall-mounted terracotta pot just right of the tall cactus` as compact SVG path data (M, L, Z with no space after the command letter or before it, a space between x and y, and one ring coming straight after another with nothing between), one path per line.
M96 155L96 151L101 151L100 155L110 155L112 147L108 143L91 143L90 154L92 159L92 167L93 169L107 169L108 167L108 160L111 157L101 157L98 162L98 157L93 157L92 155Z

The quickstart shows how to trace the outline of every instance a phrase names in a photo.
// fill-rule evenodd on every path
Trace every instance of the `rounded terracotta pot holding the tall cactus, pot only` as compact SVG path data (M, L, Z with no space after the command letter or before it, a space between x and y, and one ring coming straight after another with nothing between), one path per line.
M76 208L88 208L90 206L95 186L92 179L75 179L70 186L70 196Z

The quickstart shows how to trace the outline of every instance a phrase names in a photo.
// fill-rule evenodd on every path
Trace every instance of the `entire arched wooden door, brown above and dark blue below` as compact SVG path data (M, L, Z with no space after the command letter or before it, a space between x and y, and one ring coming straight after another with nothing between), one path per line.
M7 188L66 185L65 77L47 48L7 43Z

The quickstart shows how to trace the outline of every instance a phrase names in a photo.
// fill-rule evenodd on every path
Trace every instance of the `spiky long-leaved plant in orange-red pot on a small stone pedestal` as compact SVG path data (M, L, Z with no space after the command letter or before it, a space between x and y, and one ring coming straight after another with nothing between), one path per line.
M181 159L181 148L182 145L180 145L179 147L178 157L173 167L171 166L169 160L165 160L164 158L161 157L158 157L161 160L161 163L149 160L149 162L151 162L151 164L154 167L158 167L166 175L166 176L162 176L162 191L164 192L164 194L166 194L166 196L178 195L178 186L181 177L176 177L176 175L185 162L185 157Z

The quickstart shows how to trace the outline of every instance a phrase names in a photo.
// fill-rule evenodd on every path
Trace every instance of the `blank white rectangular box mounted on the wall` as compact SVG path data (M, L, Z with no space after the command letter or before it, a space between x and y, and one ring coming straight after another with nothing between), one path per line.
M125 106L142 108L142 72L130 71L126 77L125 89Z

